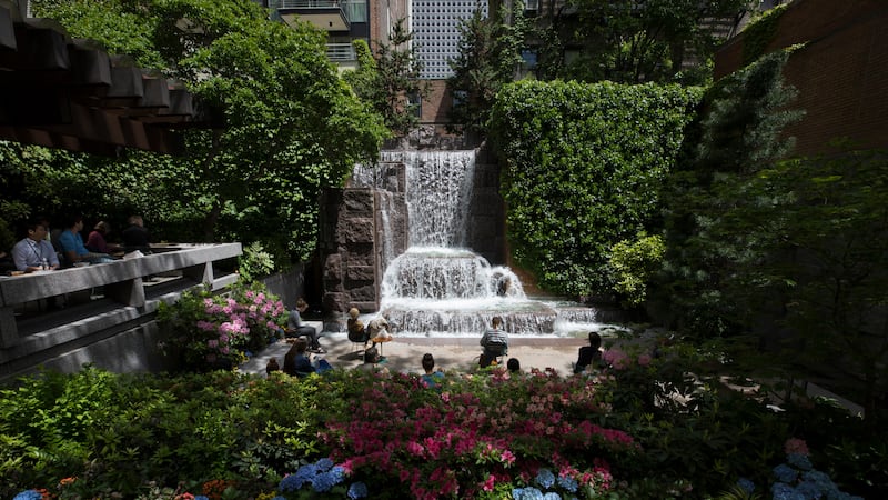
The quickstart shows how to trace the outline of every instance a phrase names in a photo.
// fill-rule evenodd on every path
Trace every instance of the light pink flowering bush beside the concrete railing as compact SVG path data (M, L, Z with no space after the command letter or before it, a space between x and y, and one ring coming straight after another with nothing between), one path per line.
M181 356L184 367L233 367L281 338L286 310L261 283L235 287L228 294L206 291L182 294L161 304L158 320L170 329L161 344L167 354Z

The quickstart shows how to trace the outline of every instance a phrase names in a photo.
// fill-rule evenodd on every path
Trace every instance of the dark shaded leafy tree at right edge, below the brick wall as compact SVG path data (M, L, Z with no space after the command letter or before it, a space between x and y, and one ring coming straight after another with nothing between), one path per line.
M760 171L748 191L775 200L767 234L755 241L767 258L744 269L759 289L775 290L767 297L781 299L777 324L787 334L777 347L790 367L829 367L874 421L888 403L886 153L787 160Z

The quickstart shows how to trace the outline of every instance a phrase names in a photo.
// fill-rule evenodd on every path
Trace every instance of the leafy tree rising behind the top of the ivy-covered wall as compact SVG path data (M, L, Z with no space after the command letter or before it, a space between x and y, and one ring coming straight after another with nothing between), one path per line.
M562 46L576 36L579 57L561 77L586 81L638 83L677 81L693 52L706 66L724 41L709 28L714 19L734 20L749 0L571 0L576 8L576 31L562 31ZM695 81L694 83L703 83Z

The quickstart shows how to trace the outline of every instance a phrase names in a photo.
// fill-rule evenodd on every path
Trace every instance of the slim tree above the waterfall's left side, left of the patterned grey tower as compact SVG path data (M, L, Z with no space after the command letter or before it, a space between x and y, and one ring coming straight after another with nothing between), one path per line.
M383 117L385 127L398 136L420 123L420 101L428 96L427 83L420 80L422 61L412 40L404 19L398 19L387 42L374 42L375 59L363 42L354 44L359 67L344 77L354 92Z

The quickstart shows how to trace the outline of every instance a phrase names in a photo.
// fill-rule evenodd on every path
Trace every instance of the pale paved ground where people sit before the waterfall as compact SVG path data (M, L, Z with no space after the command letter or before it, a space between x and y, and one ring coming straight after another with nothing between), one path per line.
M442 370L471 371L477 367L481 354L480 339L481 336L477 338L395 337L382 347L382 354L385 358L383 364L393 371L421 372L423 354L431 352L435 357L436 367ZM355 344L349 341L345 333L324 333L320 342L327 352L313 356L324 358L333 367L354 368L362 363L360 346L355 350ZM572 363L576 361L577 350L586 343L585 339L513 337L509 339L508 358L517 358L524 370L554 368L559 373L568 374L572 372ZM283 341L269 346L241 366L241 371L264 374L265 363L272 357L283 366L284 354L290 347L291 344Z

